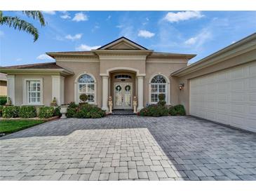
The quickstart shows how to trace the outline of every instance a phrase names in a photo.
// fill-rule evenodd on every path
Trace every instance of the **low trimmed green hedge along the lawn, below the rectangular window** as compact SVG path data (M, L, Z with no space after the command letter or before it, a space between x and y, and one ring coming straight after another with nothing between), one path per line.
M3 118L34 118L37 116L34 106L0 106L0 116ZM60 107L40 107L39 118L60 116Z

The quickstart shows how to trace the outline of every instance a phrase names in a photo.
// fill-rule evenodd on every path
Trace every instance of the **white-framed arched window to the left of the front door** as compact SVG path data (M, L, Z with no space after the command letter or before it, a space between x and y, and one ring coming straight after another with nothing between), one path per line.
M83 74L78 81L78 100L81 94L86 94L88 103L95 103L95 81L94 78L88 74ZM79 102L81 102L79 100Z

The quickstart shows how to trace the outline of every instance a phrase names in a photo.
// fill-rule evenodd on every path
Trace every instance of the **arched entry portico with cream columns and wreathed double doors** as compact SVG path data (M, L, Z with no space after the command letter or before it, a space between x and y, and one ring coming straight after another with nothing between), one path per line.
M143 84L145 74L130 67L107 69L102 76L102 109L109 111L108 100L112 96L114 109L133 109L133 97L137 97L137 111L143 108Z

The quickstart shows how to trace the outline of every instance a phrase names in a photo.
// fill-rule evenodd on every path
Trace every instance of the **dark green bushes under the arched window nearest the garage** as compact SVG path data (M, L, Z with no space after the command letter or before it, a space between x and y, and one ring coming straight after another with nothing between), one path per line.
M148 107L143 108L139 112L140 116L185 116L186 111L182 104L175 105L173 107L166 107L162 104L151 104Z

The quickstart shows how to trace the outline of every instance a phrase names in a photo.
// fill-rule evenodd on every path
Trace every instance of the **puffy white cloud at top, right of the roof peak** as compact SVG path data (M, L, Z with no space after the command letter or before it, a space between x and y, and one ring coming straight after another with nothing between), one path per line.
M181 11L177 13L169 12L163 19L168 20L168 22L179 22L192 18L202 18L203 16L200 11Z

